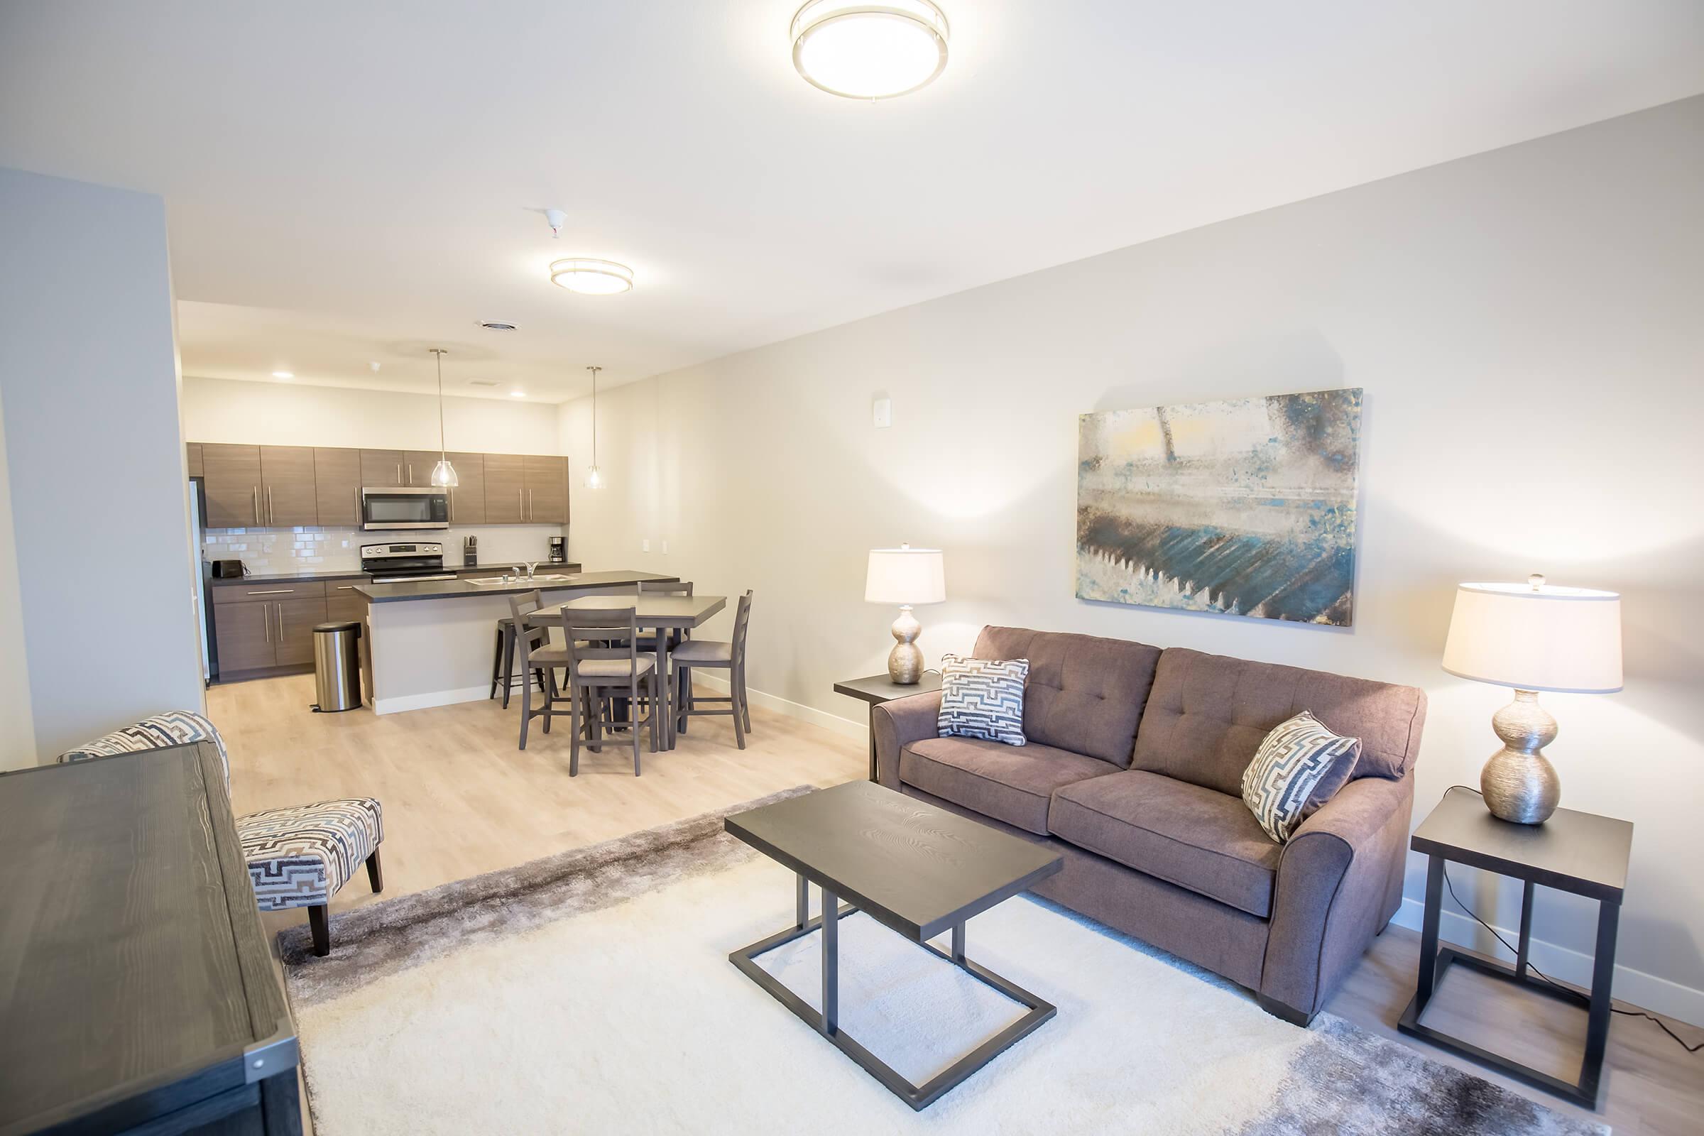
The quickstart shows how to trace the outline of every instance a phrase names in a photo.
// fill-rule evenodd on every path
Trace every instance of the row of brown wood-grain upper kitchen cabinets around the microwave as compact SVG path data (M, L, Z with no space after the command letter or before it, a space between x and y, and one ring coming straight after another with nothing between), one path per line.
M567 525L567 458L452 451L452 525ZM361 489L429 487L435 450L189 443L208 528L361 523Z

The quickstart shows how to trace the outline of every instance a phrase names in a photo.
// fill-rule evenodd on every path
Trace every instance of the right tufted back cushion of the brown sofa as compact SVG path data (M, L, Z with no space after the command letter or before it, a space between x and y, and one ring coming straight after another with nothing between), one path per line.
M1241 795L1242 772L1266 734L1302 710L1336 734L1361 739L1353 777L1397 780L1414 763L1426 695L1414 686L1171 647L1154 676L1131 768Z

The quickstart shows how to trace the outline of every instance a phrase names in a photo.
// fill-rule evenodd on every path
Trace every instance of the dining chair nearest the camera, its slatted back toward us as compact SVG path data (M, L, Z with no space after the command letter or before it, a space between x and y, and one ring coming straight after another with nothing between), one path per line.
M567 686L574 739L567 753L567 775L579 775L581 707L590 715L584 734L586 748L603 749L603 700L625 698L627 720L610 720L610 732L625 729L632 737L634 777L639 777L639 710L646 709L642 724L651 734L651 753L661 744L661 674L656 656L639 651L639 625L634 608L605 611L576 611L559 608L550 617L559 623L567 640ZM584 695L584 698L583 698ZM613 719L613 715L612 715Z

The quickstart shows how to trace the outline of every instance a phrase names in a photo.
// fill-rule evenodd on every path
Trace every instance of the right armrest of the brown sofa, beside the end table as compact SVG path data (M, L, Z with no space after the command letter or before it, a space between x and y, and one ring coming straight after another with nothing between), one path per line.
M1402 903L1414 773L1361 777L1302 823L1278 862L1261 1005L1307 1022Z

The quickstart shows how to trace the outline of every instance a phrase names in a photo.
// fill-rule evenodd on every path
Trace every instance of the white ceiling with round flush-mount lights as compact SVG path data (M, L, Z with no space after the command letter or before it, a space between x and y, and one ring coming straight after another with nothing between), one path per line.
M5 0L0 165L165 198L189 375L561 400L1704 90L1699 0L941 2L867 104L797 0Z

